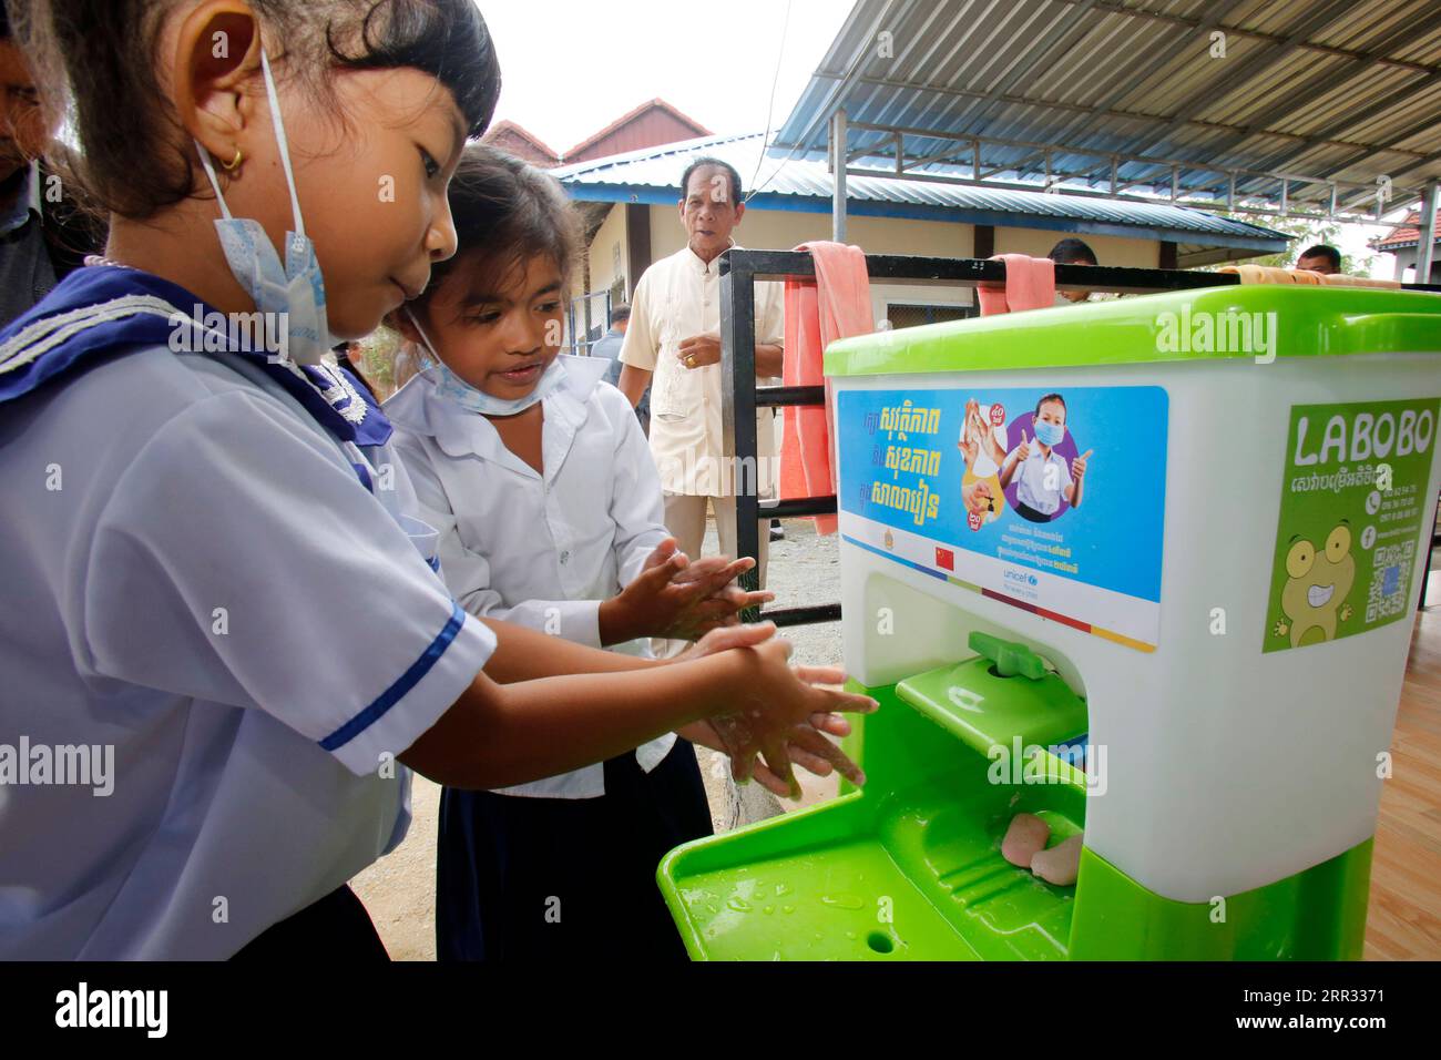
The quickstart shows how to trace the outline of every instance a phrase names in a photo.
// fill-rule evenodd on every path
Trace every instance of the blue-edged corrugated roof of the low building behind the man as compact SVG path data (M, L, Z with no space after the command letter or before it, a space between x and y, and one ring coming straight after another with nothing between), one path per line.
M572 198L588 202L674 203L680 176L696 154L729 162L752 209L798 209L829 213L833 183L826 163L764 153L759 133L702 137L608 159L550 170ZM865 160L860 160L863 164ZM915 216L1017 228L1105 232L1160 238L1199 247L1226 247L1254 254L1284 251L1288 237L1270 228L1231 221L1170 203L1115 202L1101 198L1012 192L993 187L896 180L883 176L849 177L847 203L856 215Z

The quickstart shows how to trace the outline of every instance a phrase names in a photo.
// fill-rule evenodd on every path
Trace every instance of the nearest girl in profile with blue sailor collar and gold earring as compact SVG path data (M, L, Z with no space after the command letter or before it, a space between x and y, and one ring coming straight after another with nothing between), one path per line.
M409 769L499 787L741 712L788 774L795 724L873 707L767 629L660 665L435 577L389 423L321 358L455 251L500 88L471 0L9 13L111 224L0 332L0 959L383 959L346 881Z

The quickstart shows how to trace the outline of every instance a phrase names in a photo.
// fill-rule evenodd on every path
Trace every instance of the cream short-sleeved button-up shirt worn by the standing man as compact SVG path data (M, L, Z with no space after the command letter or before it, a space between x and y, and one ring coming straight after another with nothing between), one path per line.
M738 244L732 248L741 249ZM719 363L686 368L676 358L693 335L720 330L720 260L702 261L689 245L647 268L631 297L621 363L654 372L650 385L650 451L667 493L732 496L735 476L720 433ZM785 287L755 284L755 342L785 340ZM759 378L759 385L780 379ZM775 459L775 412L755 414L757 457ZM765 464L762 463L761 467ZM759 469L758 469L759 470ZM765 473L758 482L765 483ZM767 495L762 489L762 496Z

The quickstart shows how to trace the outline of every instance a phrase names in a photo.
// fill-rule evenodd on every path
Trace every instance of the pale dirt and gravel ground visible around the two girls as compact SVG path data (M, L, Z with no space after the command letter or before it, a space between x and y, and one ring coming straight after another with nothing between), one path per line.
M718 551L715 525L706 535L702 552ZM771 544L767 587L775 593L772 607L826 604L840 600L840 567L836 536L817 536L808 519L785 524L785 539ZM840 626L797 626L785 630L795 645L794 661L803 665L840 663ZM710 802L710 818L716 831L726 823L723 770L726 760L703 747L696 748L700 772ZM836 779L801 777L804 795L794 806L808 806L834 798ZM441 789L415 777L411 796L412 822L405 842L389 857L380 858L360 873L350 885L354 888L386 949L396 960L435 959L435 826ZM787 808L791 808L787 805Z

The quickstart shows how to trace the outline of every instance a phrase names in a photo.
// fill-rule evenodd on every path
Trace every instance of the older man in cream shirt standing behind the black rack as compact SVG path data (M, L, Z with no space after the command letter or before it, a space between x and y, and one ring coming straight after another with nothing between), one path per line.
M720 428L720 271L716 258L736 242L741 224L741 176L719 159L699 157L682 179L683 249L653 264L635 284L631 323L621 349L620 388L631 404L650 385L650 450L666 493L666 526L686 555L697 557L706 509L716 518L720 551L736 554L736 474L722 451ZM781 376L785 339L784 288L755 286L755 375L761 384ZM654 376L654 378L653 378ZM775 414L757 412L757 469L741 476L767 492L774 480ZM757 571L765 584L767 534L761 534Z

